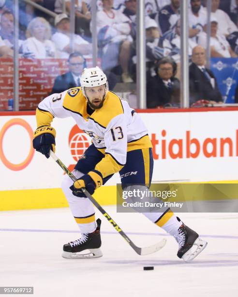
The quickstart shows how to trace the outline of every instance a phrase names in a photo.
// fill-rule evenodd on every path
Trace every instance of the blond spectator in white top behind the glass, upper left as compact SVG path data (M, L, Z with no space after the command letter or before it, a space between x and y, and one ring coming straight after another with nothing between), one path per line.
M56 47L50 40L50 25L45 18L33 18L28 25L26 37L27 40L22 44L23 55L35 59L57 57Z

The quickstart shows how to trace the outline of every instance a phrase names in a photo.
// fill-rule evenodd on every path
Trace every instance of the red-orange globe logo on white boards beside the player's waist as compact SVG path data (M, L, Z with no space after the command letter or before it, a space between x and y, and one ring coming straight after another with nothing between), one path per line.
M74 125L69 134L69 147L74 161L77 162L83 156L90 143L87 134Z

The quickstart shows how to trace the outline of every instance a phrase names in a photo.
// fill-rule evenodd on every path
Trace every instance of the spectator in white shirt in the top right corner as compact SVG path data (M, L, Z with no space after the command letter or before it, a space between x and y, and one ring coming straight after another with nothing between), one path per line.
M211 0L211 16L219 20L218 33L227 36L230 33L238 31L237 26L230 19L230 16L228 16L223 10L218 9L219 5L220 0Z

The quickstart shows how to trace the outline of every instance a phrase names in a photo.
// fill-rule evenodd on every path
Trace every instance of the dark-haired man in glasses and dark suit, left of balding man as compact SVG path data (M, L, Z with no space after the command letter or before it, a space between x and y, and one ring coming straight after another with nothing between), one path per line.
M174 77L176 63L170 58L162 58L158 61L155 72L156 75L147 83L147 107L179 106L179 80Z

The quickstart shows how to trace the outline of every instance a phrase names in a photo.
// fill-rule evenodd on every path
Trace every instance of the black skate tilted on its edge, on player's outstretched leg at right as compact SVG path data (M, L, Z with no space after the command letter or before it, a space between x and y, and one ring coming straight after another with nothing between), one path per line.
M180 219L177 217L178 221ZM174 235L178 242L178 258L182 258L185 262L193 260L207 246L207 242L200 239L198 234L189 227L182 224L178 228L178 232ZM196 247L194 250L193 247Z

